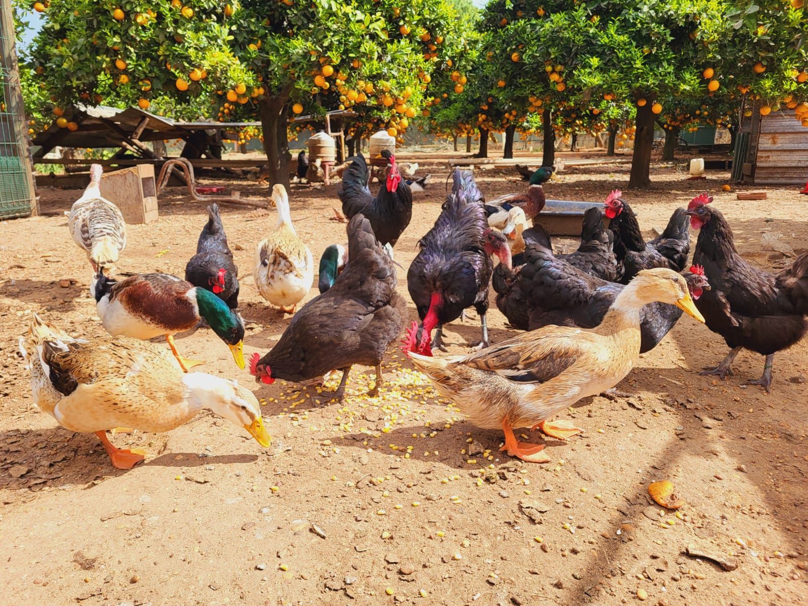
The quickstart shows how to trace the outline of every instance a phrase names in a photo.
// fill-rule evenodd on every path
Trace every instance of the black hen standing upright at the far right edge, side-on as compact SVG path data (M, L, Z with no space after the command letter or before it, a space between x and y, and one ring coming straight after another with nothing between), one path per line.
M700 230L693 263L705 268L713 287L696 307L709 330L722 335L732 351L703 374L731 375L734 357L750 349L766 356L766 362L763 377L749 383L768 391L774 354L797 343L808 330L808 253L780 273L752 267L738 254L722 213L708 206L712 201L702 194L688 205L692 227Z

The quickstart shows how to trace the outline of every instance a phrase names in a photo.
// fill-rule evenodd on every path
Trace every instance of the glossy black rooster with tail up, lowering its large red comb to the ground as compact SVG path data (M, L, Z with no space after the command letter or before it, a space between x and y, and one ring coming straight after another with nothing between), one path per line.
M510 266L511 253L505 237L490 229L482 193L469 171L455 169L452 192L446 198L435 225L420 239L420 252L410 264L406 283L422 320L417 343L411 351L430 351L428 338L437 326L431 347L442 348L442 327L460 318L473 306L480 316L482 341L488 345L486 312L491 278L490 255Z

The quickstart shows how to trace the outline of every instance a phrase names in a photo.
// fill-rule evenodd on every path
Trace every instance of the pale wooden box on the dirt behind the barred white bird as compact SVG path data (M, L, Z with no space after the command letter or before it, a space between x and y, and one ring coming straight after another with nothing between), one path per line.
M104 173L100 189L103 197L120 208L127 223L157 221L157 184L154 182L154 166L138 164L132 168Z

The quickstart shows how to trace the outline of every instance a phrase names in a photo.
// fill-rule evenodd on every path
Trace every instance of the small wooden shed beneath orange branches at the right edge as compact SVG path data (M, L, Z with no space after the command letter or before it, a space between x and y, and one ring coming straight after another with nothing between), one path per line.
M755 185L804 185L808 181L808 128L794 119L793 112L760 116L755 108L742 130L748 136L739 137L735 148L742 167L737 178ZM747 147L745 154L743 147Z

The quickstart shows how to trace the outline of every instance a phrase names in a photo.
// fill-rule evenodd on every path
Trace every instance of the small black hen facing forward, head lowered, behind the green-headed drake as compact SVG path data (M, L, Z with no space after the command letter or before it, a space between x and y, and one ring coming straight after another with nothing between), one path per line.
M208 222L196 242L196 255L185 266L185 280L216 293L230 309L238 307L238 267L227 246L219 207L208 206Z

